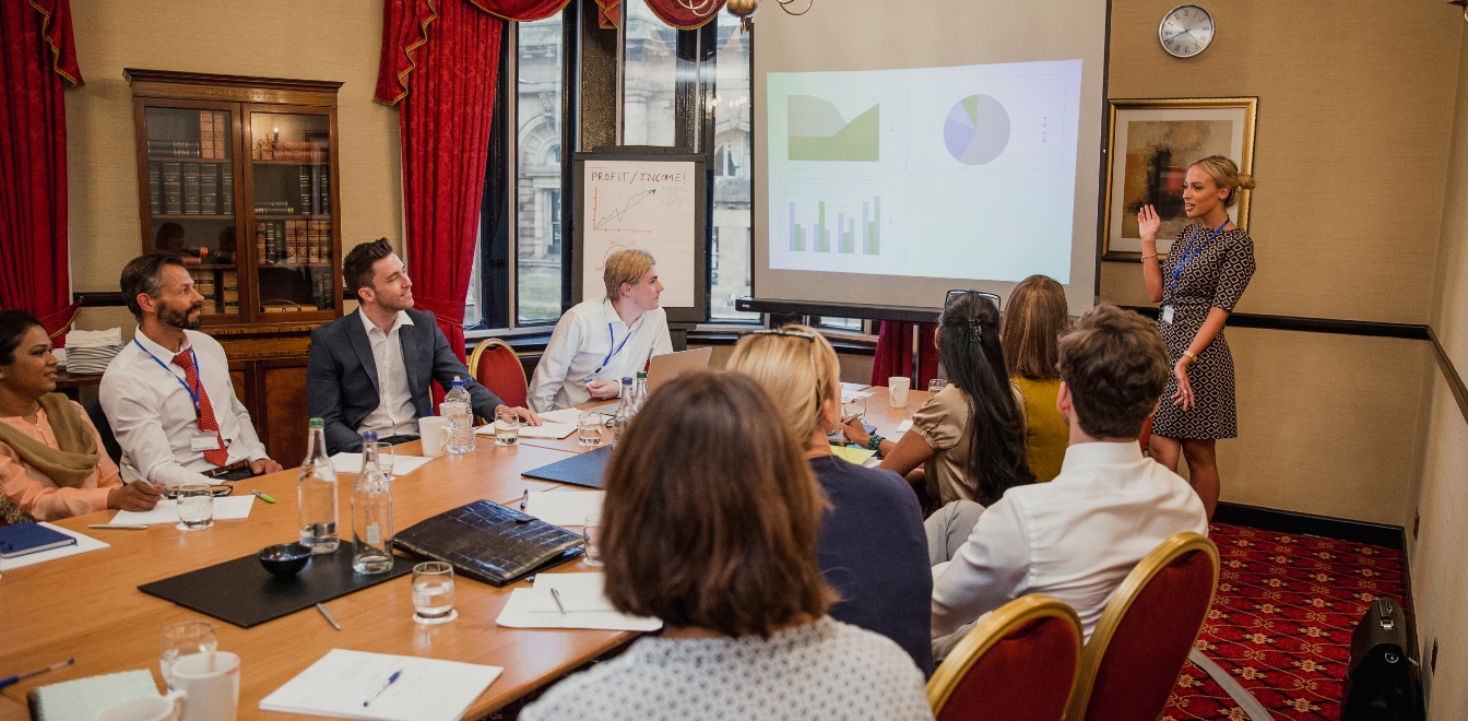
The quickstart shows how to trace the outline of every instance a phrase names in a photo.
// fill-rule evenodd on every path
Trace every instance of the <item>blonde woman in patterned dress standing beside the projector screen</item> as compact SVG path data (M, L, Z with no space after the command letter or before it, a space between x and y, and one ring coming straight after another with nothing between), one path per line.
M1254 241L1229 220L1229 206L1239 201L1239 191L1251 188L1254 178L1223 156L1189 166L1183 209L1192 222L1173 239L1166 263L1157 260L1157 210L1144 206L1136 214L1142 276L1148 297L1163 304L1157 327L1173 363L1149 448L1154 460L1173 470L1182 451L1210 518L1220 486L1214 446L1220 438L1239 435L1233 357L1223 325L1254 275Z

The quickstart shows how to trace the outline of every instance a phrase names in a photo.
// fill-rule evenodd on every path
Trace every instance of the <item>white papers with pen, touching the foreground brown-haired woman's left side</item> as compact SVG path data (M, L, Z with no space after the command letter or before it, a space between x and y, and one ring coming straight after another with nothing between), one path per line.
M603 576L599 573L542 573L536 576L531 589L514 589L509 601L501 609L499 626L509 628L596 628L609 631L656 631L662 628L658 618L639 618L619 614L602 592ZM561 595L555 605L550 589Z

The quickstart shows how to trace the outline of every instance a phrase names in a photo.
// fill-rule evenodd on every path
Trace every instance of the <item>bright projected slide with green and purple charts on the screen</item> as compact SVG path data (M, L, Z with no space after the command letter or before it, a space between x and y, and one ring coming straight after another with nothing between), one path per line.
M1080 60L768 73L769 267L1069 282Z

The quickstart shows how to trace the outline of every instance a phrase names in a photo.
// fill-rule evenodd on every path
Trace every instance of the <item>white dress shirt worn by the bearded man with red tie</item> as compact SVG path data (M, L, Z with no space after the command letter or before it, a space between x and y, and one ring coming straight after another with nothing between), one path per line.
M208 394L219 433L229 451L226 465L269 458L255 427L250 424L250 411L235 396L225 348L197 330L185 330L184 336L179 351L192 348L198 358L198 380ZM191 448L191 439L198 433L198 417L192 394L179 382L186 374L173 363L176 354L148 339L141 327L134 339L137 342L125 345L107 366L97 392L122 446L122 461L153 483L170 488L208 483L210 479L201 473L217 465L204 458L204 451ZM159 366L154 357L167 367Z

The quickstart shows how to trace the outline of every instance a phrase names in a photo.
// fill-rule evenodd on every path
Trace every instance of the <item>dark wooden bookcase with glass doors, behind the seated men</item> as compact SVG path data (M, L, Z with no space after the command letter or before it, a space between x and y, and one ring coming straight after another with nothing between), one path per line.
M341 82L125 69L142 253L184 256L201 330L272 457L305 455L310 332L342 316Z

